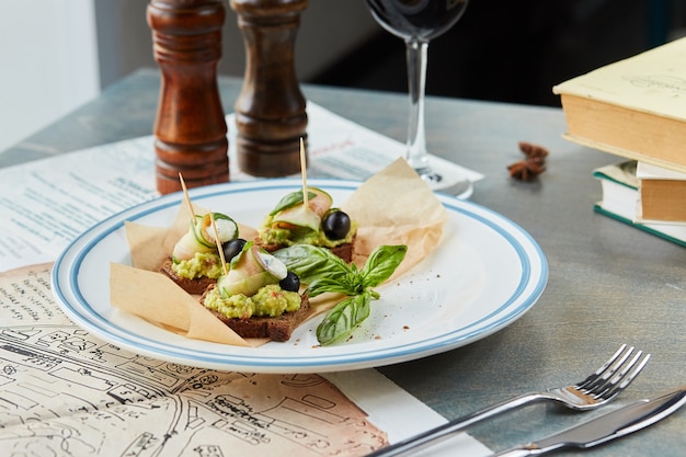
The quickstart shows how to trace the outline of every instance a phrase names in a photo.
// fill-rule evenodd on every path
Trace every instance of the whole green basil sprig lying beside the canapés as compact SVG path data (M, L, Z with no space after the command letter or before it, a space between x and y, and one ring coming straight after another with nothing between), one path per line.
M369 316L369 304L379 298L373 289L388 279L404 259L408 247L379 245L362 269L346 264L330 250L296 244L274 253L286 267L307 284L310 297L325 292L345 294L317 327L317 340L328 345L346 339Z

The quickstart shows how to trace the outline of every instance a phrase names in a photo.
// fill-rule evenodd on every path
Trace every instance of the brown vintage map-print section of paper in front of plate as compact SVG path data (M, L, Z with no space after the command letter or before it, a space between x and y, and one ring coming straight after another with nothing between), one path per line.
M0 274L0 442L9 455L352 457L444 422L374 369L260 375L122 350L60 311L50 266ZM446 444L489 454L465 434Z

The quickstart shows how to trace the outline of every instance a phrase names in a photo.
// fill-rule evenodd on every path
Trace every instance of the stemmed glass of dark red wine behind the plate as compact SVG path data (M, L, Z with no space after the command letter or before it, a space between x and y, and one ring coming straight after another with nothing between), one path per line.
M428 42L450 28L462 15L468 0L366 0L371 15L384 28L405 42L410 114L405 159L432 188L468 196L472 184L461 175L438 174L428 162L424 130L424 94Z

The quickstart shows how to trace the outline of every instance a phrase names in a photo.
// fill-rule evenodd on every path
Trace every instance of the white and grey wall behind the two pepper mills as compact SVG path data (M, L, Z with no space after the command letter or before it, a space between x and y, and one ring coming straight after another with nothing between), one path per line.
M0 153L140 67L155 67L146 0L4 1L0 13ZM243 42L226 1L221 75L242 76ZM309 0L296 41L307 81L378 25L363 0Z

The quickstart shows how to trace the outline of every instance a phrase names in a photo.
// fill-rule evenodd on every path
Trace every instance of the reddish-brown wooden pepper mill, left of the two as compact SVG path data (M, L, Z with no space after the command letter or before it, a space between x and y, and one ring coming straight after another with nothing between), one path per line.
M155 58L161 69L155 123L157 188L181 190L229 180L227 126L217 84L220 0L151 0L147 8Z

